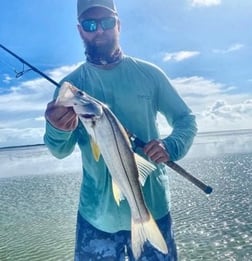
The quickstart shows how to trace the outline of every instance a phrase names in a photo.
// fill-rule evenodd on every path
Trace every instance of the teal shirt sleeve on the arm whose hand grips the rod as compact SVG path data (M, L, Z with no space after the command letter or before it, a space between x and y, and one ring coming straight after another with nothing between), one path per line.
M197 133L195 115L161 71L158 84L157 104L172 128L169 136L163 139L172 161L183 158L189 151Z

